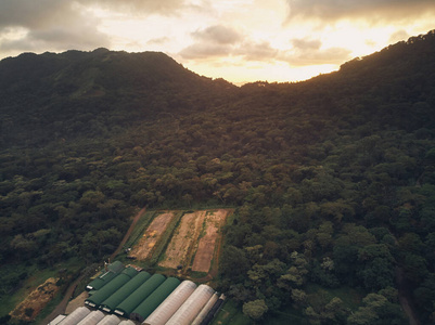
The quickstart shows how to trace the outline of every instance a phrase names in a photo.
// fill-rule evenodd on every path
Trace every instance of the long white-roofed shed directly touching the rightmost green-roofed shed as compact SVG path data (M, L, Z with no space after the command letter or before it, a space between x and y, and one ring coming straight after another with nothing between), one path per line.
M164 325L180 308L180 306L196 289L196 285L187 280L183 281L169 296L166 298L155 311L146 317L144 325Z

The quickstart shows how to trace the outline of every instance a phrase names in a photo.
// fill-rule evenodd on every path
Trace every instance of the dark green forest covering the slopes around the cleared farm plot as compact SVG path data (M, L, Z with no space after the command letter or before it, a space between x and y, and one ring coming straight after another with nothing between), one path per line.
M241 88L162 53L22 54L0 120L1 301L112 253L139 207L233 206L219 289L250 317L409 324L401 298L435 322L434 31Z

